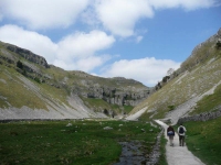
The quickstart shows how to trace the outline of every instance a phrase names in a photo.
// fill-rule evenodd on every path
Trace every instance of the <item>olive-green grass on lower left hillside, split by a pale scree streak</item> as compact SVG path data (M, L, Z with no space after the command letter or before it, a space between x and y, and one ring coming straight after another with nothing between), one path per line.
M10 75L8 73L10 73ZM56 103L65 103L69 106L67 96L70 94L65 88L55 88L48 84L39 84L28 78L28 80L39 89L39 94L41 94L42 97L40 98L33 90L30 90L28 85L18 78L23 77L23 75L19 74L13 68L1 66L0 77L2 80L0 81L0 96L2 96L2 98L0 98L0 108L8 108L10 103L12 107L17 108L27 106L31 109L48 110L42 98L51 100L52 102L55 100Z

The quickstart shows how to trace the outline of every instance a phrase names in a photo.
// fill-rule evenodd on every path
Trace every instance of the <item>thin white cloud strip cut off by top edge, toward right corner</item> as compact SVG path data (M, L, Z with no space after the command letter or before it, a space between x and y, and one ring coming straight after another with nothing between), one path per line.
M217 0L149 0L155 9L183 8L185 10L196 10L200 8L210 8L217 3Z

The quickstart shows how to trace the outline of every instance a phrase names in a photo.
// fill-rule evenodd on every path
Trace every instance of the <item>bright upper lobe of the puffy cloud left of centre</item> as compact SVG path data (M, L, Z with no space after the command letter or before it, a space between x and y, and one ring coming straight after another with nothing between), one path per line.
M115 42L113 36L108 36L102 31L91 31L90 33L77 32L64 37L60 43L59 57L66 59L65 56L87 57L96 51L105 50Z

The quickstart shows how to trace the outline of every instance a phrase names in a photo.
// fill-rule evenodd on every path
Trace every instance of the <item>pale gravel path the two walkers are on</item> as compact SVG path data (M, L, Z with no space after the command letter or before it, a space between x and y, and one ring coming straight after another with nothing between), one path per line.
M167 130L168 125L166 123L159 120L156 120L156 122L160 124L165 130ZM168 139L166 131L165 131L165 138ZM173 139L173 144L175 146L170 146L168 141L166 145L166 155L168 165L204 165L190 151L188 151L187 146L179 146L179 136L177 133Z

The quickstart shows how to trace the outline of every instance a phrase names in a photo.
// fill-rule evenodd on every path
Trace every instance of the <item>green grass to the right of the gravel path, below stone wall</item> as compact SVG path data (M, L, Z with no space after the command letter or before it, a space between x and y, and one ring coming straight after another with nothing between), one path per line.
M221 118L185 125L188 148L207 165L221 164Z

